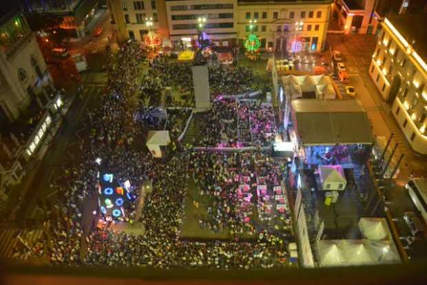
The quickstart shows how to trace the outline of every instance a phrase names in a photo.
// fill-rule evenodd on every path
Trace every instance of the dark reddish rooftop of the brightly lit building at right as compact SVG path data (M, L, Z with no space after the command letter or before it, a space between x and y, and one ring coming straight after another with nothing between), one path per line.
M421 25L427 23L427 14L405 14L387 17L387 19L408 43L415 41L414 50L421 56L421 59L427 61L427 30L424 27L421 28Z

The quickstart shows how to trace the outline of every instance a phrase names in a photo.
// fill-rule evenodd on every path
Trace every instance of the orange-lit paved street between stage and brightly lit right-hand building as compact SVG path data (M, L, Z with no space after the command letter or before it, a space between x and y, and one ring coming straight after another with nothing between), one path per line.
M377 87L368 74L372 54L377 45L377 38L373 35L328 35L327 41L333 50L339 50L344 55L344 61L350 74L349 85L355 87L357 98L366 109L373 126L373 134L388 138L393 132L395 137L391 146L394 146L396 142L399 143L396 159L399 158L400 154L405 155L395 187L387 189L386 198L391 202L388 207L396 219L399 234L406 237L409 232L402 217L405 211L415 211L415 206L404 189L404 184L406 184L411 172L416 173L417 176L427 176L426 158L416 156L410 149L404 134L390 113L390 107L382 100ZM427 242L416 242L408 251L409 255L414 258L427 257L425 244Z

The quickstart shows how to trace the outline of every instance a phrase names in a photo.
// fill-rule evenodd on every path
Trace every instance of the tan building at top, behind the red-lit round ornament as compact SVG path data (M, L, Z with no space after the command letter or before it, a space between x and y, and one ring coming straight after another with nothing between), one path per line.
M163 39L168 39L165 1L161 0L107 0L118 41L143 40L148 30L155 30ZM153 25L148 27L145 18L152 18Z

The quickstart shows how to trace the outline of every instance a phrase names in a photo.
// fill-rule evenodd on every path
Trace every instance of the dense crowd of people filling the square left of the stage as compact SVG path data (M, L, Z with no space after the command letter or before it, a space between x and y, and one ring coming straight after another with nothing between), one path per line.
M236 205L233 204L236 200L233 187L237 185L233 182L233 175L253 175L250 153L207 154L176 145L176 152L172 156L165 160L155 160L146 149L135 147L134 140L144 139L147 131L145 124L136 124L134 120L135 110L143 108L143 103L129 107L134 103L134 74L138 72L140 61L140 51L132 43L125 44L118 54L112 55L108 63L110 89L93 116L90 134L82 138L80 143L84 156L78 165L67 168L65 175L51 185L57 189L59 200L55 206L56 211L52 211L50 215L51 222L47 233L47 255L50 262L62 265L219 269L272 268L286 264L287 242L268 227L251 224L244 230L245 225L238 216ZM187 67L180 64L156 59L149 76L160 78L160 81L155 79L159 84L143 87L143 93L151 92L149 90L157 92L159 86L165 82L169 83L167 81L173 81L172 85L182 80L181 84L189 83L187 75L191 73L186 73L183 68ZM160 72L162 69L163 72ZM227 72L214 70L214 76L218 77L223 73L223 76L228 74L229 78L223 81L223 77L220 82L217 82L218 79L212 79L215 83L211 83L211 87L218 87L218 90L222 88L222 93L230 91L227 90L228 87L235 88L230 92L240 92L249 85L250 81L246 81L247 78L242 79L242 74L245 75L243 77L249 78L250 70L243 68L239 71L240 74L233 76ZM165 74L169 78L163 78ZM143 79L143 84L146 81L147 78ZM217 128L218 126L213 125L216 120L231 122L229 124L233 127L226 127L226 122L222 132L233 142L237 138L235 108L236 103L233 101L215 104L213 112L216 118L210 121L211 125L207 125L209 128ZM178 135L178 125L182 124L182 120L171 117L173 137ZM216 139L218 133L213 135L211 142ZM232 170L238 167L244 169ZM98 222L98 219L107 220L107 217L101 215L97 207L93 211L87 211L88 205L97 204L100 169L106 169L122 181L129 180L137 200L143 196L143 193L138 193L143 183L152 182L152 192L144 197L140 215L137 215L134 204L125 211L127 223L143 224L143 235L114 231L109 226L114 222ZM209 210L205 222L212 230L231 227L236 240L190 242L180 238L180 227L185 216L187 182L193 171L200 189L213 200L212 209ZM238 240L242 231L250 231L253 240ZM37 254L39 255L40 251L34 249L32 255L38 256Z

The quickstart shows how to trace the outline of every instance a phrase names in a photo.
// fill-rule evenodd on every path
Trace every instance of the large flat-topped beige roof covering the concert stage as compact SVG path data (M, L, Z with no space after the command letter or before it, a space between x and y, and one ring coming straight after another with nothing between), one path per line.
M292 101L302 145L351 145L374 142L368 115L357 99Z

